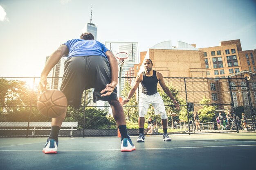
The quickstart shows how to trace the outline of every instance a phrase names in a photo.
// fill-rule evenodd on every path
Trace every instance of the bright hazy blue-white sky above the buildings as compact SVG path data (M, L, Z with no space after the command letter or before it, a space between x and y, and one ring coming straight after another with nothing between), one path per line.
M0 77L39 77L49 56L90 22L98 41L256 49L256 0L0 0Z

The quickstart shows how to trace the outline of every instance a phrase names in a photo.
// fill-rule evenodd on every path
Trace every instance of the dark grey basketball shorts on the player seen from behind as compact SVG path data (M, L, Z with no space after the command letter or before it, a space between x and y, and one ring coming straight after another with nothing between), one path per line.
M110 96L101 97L101 90L111 83L109 61L103 56L70 57L65 61L61 92L74 109L81 107L83 91L94 88L93 102L117 98L117 87Z

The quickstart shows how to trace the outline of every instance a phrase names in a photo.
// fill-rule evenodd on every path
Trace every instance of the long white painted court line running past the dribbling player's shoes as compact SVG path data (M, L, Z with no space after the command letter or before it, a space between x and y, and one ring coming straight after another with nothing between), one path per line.
M219 147L239 147L256 145L226 145L226 146L194 146L194 147L173 147L173 148L140 148L136 150L157 150L157 149L190 149L190 148L219 148ZM58 151L111 151L120 149L62 149ZM20 152L20 151L42 151L42 150L0 150L0 152Z

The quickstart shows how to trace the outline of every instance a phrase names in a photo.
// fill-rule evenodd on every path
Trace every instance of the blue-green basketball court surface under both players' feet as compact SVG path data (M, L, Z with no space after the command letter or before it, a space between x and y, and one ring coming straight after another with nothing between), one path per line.
M42 152L46 138L0 138L1 170L241 170L255 169L256 133L146 137L121 152L117 137L60 137L57 154Z

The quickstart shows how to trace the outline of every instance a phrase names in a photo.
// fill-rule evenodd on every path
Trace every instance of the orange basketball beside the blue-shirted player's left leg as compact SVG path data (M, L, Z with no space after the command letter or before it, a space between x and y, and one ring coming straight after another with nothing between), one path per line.
M66 96L56 89L43 92L37 101L38 110L48 118L56 118L65 113L67 109Z

